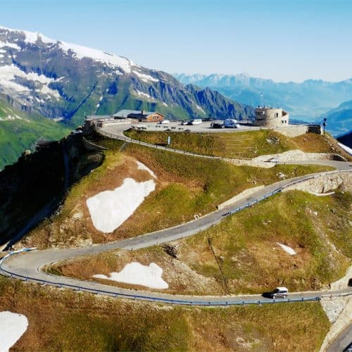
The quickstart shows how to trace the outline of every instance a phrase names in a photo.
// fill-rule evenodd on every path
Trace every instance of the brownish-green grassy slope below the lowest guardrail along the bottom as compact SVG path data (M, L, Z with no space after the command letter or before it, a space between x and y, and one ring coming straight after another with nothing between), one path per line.
M27 316L20 351L318 351L329 329L319 303L181 308L0 277L2 310Z

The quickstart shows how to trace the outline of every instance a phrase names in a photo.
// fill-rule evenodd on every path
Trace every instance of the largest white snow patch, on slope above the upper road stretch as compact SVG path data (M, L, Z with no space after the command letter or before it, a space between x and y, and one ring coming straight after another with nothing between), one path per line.
M155 189L155 182L136 182L125 178L113 191L102 191L87 199L87 207L96 230L113 232L130 216Z

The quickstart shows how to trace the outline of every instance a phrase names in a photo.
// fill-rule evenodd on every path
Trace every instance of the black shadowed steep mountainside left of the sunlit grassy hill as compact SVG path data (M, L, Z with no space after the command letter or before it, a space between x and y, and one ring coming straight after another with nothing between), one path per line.
M56 211L71 184L101 165L82 134L48 142L0 172L0 245L15 242ZM12 244L12 243L11 243Z

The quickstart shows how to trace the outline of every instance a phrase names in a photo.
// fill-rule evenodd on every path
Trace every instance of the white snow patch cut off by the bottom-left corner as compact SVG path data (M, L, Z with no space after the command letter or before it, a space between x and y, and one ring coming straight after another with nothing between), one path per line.
M0 312L0 352L8 351L28 327L25 315Z

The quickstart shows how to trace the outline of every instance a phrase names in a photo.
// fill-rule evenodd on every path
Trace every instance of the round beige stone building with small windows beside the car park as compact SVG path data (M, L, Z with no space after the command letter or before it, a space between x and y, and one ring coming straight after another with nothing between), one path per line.
M253 125L270 128L287 127L289 125L289 113L282 110L282 108L258 106L256 108L256 120Z

